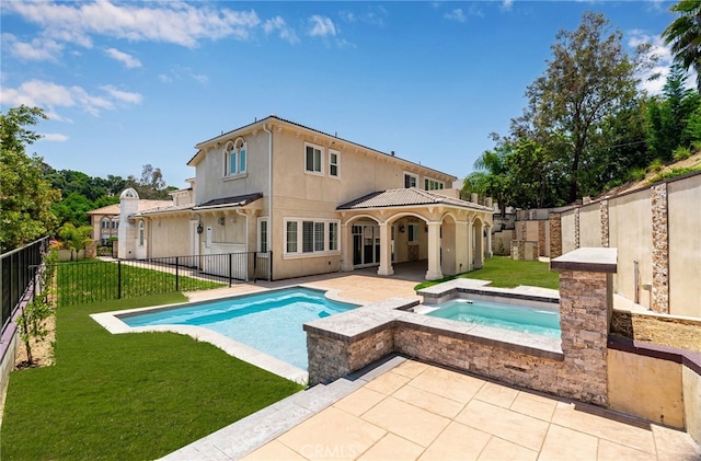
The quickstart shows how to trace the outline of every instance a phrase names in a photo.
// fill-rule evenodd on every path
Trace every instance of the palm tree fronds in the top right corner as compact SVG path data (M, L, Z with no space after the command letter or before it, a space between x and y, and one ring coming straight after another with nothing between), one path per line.
M675 60L697 72L697 90L701 93L701 1L681 0L669 11L681 15L663 32L665 44L671 44Z

